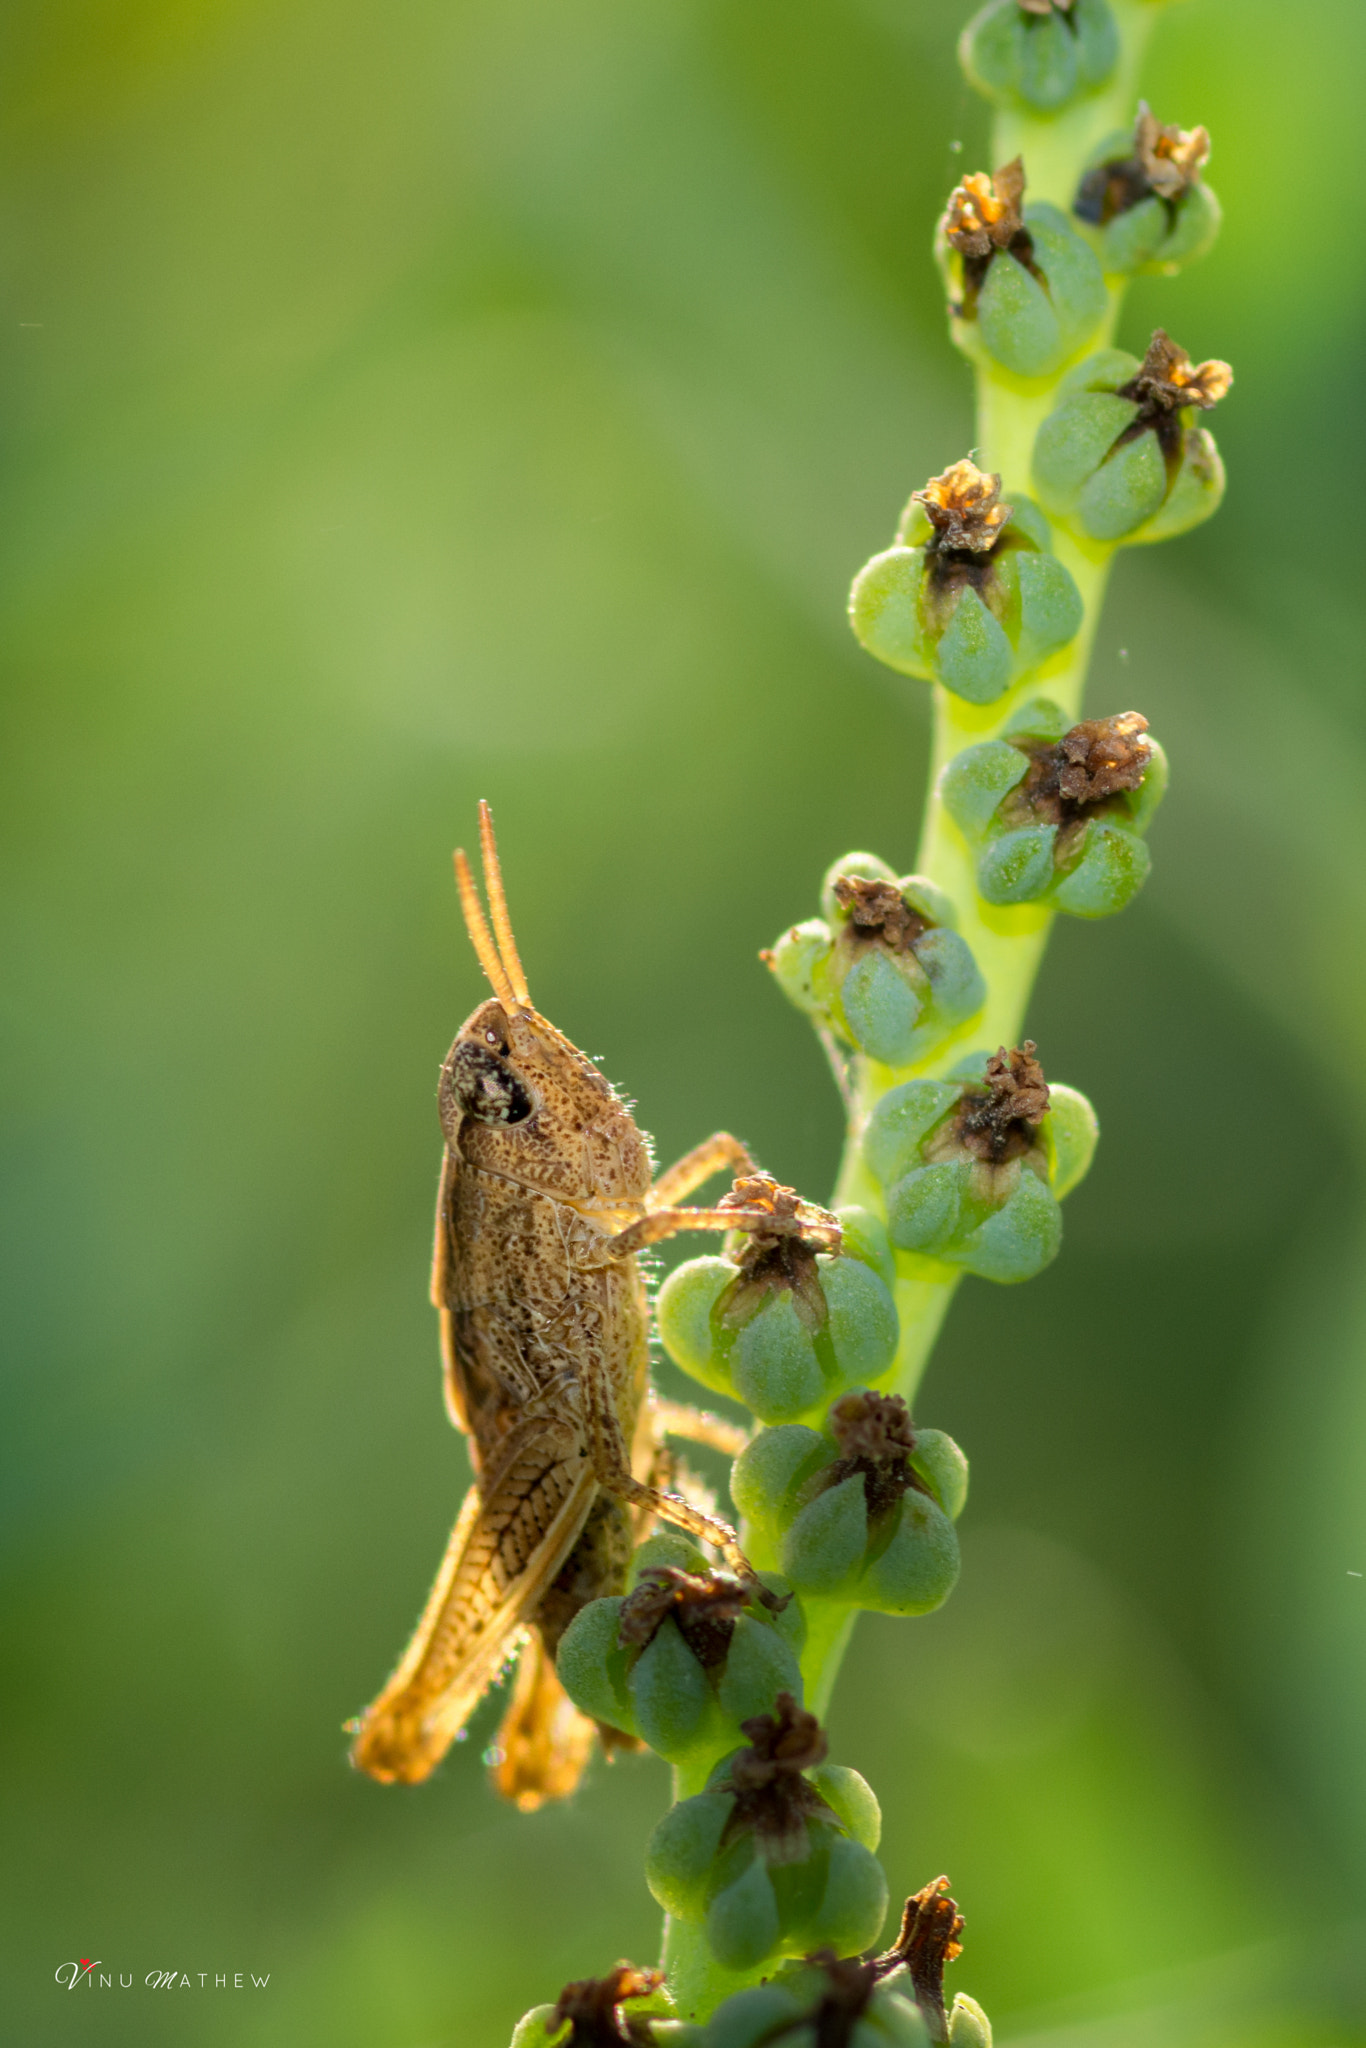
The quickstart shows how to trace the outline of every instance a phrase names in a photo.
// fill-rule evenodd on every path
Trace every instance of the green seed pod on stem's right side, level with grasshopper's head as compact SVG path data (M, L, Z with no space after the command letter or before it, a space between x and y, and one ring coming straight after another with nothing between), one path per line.
M903 1081L864 1133L887 1194L887 1235L983 1280L1032 1280L1063 1241L1061 1198L1096 1151L1096 1112L1049 1087L1034 1040L1006 1047L958 1079Z

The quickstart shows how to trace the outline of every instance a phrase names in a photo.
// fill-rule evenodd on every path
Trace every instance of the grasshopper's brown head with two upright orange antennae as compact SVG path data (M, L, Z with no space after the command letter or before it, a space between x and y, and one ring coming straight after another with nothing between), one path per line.
M651 1182L645 1137L588 1055L532 1008L485 803L479 838L492 930L463 852L455 874L494 997L465 1020L440 1069L436 1100L446 1145L471 1165L561 1200L637 1204Z

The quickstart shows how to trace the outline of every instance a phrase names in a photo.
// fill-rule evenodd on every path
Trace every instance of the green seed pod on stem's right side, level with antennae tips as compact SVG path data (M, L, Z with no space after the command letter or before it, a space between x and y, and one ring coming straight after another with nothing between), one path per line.
M1143 834L1167 786L1167 756L1137 711L1063 727L1057 705L1026 705L999 739L948 762L940 795L977 850L987 903L1108 918L1147 879Z

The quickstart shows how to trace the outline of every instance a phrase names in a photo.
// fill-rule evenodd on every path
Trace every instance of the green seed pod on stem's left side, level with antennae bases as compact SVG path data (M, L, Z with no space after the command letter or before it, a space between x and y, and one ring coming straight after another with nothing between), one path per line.
M913 1067L977 1016L987 983L954 930L952 901L874 854L825 874L829 924L811 918L762 958L799 1010L889 1067Z

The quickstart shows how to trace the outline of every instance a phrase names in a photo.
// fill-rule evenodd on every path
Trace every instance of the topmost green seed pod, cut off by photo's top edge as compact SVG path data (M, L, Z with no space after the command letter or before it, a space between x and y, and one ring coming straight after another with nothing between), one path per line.
M958 41L979 92L997 106L1044 115L1104 86L1118 53L1106 0L991 0Z

